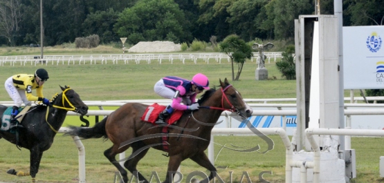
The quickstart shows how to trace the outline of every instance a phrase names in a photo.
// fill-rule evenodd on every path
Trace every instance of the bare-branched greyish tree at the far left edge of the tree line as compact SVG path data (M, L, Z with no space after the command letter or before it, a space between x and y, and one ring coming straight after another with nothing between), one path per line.
M19 0L0 1L0 36L6 37L11 46L18 36L21 21L21 2Z

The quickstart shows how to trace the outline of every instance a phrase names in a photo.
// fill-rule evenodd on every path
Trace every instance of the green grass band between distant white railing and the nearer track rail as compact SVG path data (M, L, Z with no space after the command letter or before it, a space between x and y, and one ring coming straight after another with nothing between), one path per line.
M210 61L205 64L203 60L193 61L163 61L158 64L141 62L140 64L86 64L86 65L39 65L39 66L3 66L0 80L5 81L11 75L18 73L34 73L37 68L46 68L50 79L44 84L44 95L53 96L60 91L59 85L69 85L83 100L111 100L111 99L161 99L154 93L153 86L166 75L175 75L192 79L196 73L204 73L210 79L210 86L218 86L219 79L228 78L244 98L281 98L295 97L295 80L285 80L280 77L275 64L266 64L269 77L276 80L255 80L255 61L246 63L239 81L232 81L230 63L221 64ZM237 70L237 68L235 68ZM235 73L236 74L236 73ZM5 94L5 90L3 90ZM0 101L10 100L8 95L0 95Z

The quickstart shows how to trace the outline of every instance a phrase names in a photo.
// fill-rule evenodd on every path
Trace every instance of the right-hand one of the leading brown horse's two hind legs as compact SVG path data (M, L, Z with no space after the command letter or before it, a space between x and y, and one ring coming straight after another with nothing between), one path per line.
M143 142L136 142L131 145L132 146L132 154L129 156L129 160L124 163L125 168L127 168L133 175L136 176L139 182L148 182L147 179L140 172L137 171L138 162L147 154L149 147L145 149L140 149L145 146ZM136 154L138 153L138 154ZM136 174L137 173L137 174Z

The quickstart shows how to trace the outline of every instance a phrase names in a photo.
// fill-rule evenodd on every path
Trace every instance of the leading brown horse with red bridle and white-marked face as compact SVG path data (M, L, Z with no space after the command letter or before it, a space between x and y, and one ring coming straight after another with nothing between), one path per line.
M223 110L230 110L244 119L253 113L250 106L244 102L240 93L228 83L227 79L224 82L220 80L220 86L219 90L212 88L203 94L199 99L201 106L199 110L185 110L176 124L167 126L169 130L167 145L161 141L164 136L162 133L164 126L154 126L140 119L148 107L140 103L128 103L121 106L102 122L95 124L93 128L71 127L73 131L68 134L84 139L92 137L110 139L113 146L104 151L104 155L118 168L124 182L128 182L125 168L138 180L148 182L137 171L136 165L145 156L149 147L166 151L169 154L167 175L170 174L170 176L165 176L165 182L172 182L170 177L174 176L181 162L187 158L210 171L209 177L203 180L203 182L209 182L217 175L217 170L204 151L210 144L212 128L221 113ZM123 168L116 161L115 156L129 147L133 148L133 153L127 158L128 160L124 163L125 168Z

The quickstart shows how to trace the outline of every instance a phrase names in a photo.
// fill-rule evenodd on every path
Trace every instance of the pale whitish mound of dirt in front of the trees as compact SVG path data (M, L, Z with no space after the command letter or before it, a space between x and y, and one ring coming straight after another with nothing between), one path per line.
M177 52L181 51L180 44L172 41L140 41L128 50L129 52Z

